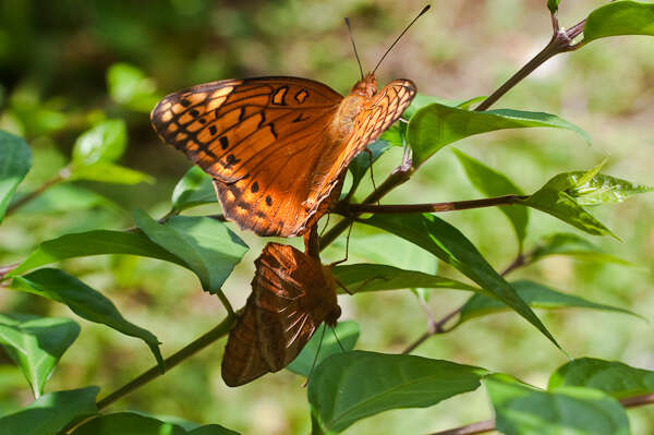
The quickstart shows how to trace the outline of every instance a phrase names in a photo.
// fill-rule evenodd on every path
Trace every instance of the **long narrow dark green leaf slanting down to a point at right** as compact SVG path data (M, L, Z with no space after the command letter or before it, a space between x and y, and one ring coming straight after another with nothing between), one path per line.
M499 298L518 314L534 325L557 347L558 343L513 288L500 277L472 243L455 227L436 216L424 215L374 215L362 220L401 237L436 255L453 266L483 289Z

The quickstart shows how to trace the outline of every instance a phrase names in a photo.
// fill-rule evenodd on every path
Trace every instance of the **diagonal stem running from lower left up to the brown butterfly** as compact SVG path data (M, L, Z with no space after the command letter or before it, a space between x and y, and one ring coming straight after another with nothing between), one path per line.
M231 329L234 321L235 317L233 315L228 315L225 318L225 321L222 321L214 329L209 330L208 333L198 337L191 343L186 345L184 348L180 349L178 352L168 357L166 360L164 360L166 372L168 372L170 368L174 367L182 361L186 360L187 358L192 357L193 354L197 353L202 349L206 348L207 346L211 345L214 341L225 337ZM116 391L109 394L104 399L99 400L97 402L98 411L101 411L118 399L129 395L136 388L142 387L143 385L161 375L162 373L159 371L159 367L155 365L154 367L135 377L134 379L120 387Z

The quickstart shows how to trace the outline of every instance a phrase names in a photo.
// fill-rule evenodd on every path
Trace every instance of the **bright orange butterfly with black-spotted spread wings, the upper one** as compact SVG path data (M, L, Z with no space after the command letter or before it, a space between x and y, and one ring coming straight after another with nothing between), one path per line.
M404 78L377 90L374 73L344 97L308 78L221 80L168 95L150 120L214 178L227 219L258 235L292 237L327 212L348 165L414 95Z

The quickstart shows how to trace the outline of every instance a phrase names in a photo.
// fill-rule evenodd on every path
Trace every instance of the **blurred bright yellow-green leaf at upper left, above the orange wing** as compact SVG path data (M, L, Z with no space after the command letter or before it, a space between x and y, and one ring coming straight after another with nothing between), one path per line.
M129 63L109 67L107 88L116 102L141 112L149 112L160 99L155 94L155 82Z

